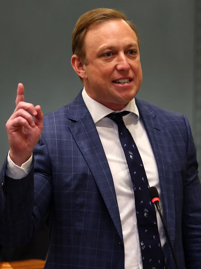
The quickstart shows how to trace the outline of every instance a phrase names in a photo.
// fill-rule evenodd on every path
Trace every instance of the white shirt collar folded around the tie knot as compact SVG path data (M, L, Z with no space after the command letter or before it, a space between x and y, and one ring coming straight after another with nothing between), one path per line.
M85 88L83 88L82 97L85 102L85 105L87 106L92 116L94 123L98 122L100 119L104 118L106 115L114 112L114 110L106 107L105 105L102 105L101 103L95 101L90 96L88 96ZM118 112L122 112L124 110L134 113L136 115L136 119L137 120L139 119L139 111L135 104L135 98L133 98L122 110Z

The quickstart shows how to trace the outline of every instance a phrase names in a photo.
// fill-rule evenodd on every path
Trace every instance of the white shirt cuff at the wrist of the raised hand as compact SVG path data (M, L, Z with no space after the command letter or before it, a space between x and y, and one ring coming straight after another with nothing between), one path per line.
M19 167L11 160L9 150L7 157L6 176L12 177L14 179L21 179L23 177L26 177L32 166L32 159L33 154L24 164L21 165L21 167Z

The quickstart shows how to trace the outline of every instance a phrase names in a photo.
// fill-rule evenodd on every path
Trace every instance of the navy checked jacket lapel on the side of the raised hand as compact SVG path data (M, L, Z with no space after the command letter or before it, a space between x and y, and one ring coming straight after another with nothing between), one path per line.
M68 118L73 120L74 123L71 124L69 129L92 172L105 205L123 242L113 178L96 126L83 101L81 93L71 104Z

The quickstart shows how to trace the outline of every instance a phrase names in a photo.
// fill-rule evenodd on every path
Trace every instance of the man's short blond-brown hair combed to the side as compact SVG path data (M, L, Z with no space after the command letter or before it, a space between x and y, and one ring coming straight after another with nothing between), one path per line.
M109 8L96 8L84 13L77 23L72 34L72 52L80 57L81 61L87 65L86 52L85 52L85 36L88 28L95 24L108 20L125 20L133 32L136 34L138 47L139 35L135 25L127 20L126 15L122 11Z

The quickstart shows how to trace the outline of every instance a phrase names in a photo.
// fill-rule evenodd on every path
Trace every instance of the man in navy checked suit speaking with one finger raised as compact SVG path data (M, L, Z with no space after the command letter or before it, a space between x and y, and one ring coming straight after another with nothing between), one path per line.
M124 151L120 128L126 126L130 159L140 159L146 190L156 186L160 193L179 268L201 268L201 186L190 127L183 115L134 98L142 81L135 26L115 10L88 11L75 25L72 49L84 89L47 114L44 125L41 107L25 103L18 85L6 123L10 152L1 171L0 243L31 240L49 210L45 268L176 268L151 202L142 222L138 217L137 193L144 190L136 190L137 170L131 173L134 164ZM111 116L114 111L130 113ZM125 125L115 121L119 115ZM155 226L142 235L151 210ZM141 238L152 226L154 247L145 247ZM144 256L147 250L156 257Z

